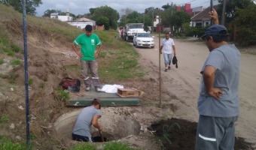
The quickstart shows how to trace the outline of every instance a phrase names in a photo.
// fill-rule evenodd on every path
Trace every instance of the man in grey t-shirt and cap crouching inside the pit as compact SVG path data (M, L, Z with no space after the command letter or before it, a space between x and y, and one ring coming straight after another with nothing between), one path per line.
M94 98L90 107L85 107L79 113L78 118L74 122L74 128L72 131L73 140L83 142L95 142L90 134L90 126L102 130L102 126L99 125L98 119L102 116L99 112L101 101L99 98Z

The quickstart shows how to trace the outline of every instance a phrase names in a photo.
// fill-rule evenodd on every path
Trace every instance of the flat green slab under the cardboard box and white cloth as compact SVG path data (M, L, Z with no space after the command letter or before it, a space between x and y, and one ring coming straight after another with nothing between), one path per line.
M101 105L104 107L129 107L140 105L139 98L121 98L117 93L95 92L91 90L90 92L86 92L86 95L83 98L66 101L66 106L88 107L91 105L93 98L99 98L102 101Z

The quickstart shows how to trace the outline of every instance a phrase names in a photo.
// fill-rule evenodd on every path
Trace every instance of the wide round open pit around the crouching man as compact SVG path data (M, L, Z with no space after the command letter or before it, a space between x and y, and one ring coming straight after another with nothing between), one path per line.
M73 124L80 112L81 110L75 110L57 118L54 127L58 136L72 139ZM98 121L103 127L102 136L105 141L117 140L126 136L139 134L141 126L130 113L124 112L117 107L102 108L100 112L102 113L102 117ZM100 142L99 130L91 126L90 133L96 139L96 142Z

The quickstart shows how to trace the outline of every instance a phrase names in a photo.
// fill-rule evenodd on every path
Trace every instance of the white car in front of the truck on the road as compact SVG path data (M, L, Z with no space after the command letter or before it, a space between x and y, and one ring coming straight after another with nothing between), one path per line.
M151 36L148 32L136 33L133 37L133 46L136 47L151 47L154 48L154 36Z

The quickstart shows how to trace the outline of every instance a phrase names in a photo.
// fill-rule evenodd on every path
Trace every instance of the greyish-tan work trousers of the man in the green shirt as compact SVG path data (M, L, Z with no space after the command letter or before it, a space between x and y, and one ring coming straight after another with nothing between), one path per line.
M96 60L93 61L84 61L81 60L81 70L82 70L82 76L84 77L84 84L87 87L90 87L90 77L89 77L89 71L92 75L93 80L93 86L100 88L99 83L99 76L98 76L98 62Z

